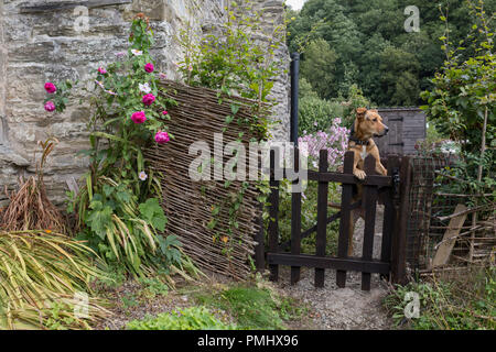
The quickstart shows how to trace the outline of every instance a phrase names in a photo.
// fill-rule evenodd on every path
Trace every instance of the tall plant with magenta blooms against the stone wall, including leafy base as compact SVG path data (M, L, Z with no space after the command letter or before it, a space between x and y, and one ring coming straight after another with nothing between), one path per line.
M108 264L140 275L181 266L175 237L159 235L168 219L155 195L160 183L143 158L142 148L170 141L166 107L175 101L159 94L150 56L153 35L148 20L138 14L131 24L128 53L117 53L117 62L95 70L95 87L88 91L94 114L86 187L69 194L68 212L76 211L78 239ZM47 82L45 109L63 111L71 85ZM85 90L85 89L84 89ZM87 90L87 89L86 89ZM60 98L62 97L62 98Z

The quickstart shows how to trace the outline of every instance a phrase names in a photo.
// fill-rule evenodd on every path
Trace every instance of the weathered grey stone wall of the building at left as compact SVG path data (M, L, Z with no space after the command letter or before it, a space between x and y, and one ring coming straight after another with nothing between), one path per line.
M282 1L258 1L267 8L267 19L280 19ZM77 32L75 7L88 8L88 31ZM0 0L0 187L15 187L17 178L35 169L37 141L60 140L45 168L50 196L61 204L66 182L78 179L87 161L76 152L87 147L88 107L77 102L75 91L64 113L43 109L45 81L65 78L85 80L93 69L114 61L126 51L130 19L138 12L150 16L155 34L154 58L158 69L177 78L174 62L180 48L174 35L187 22L198 26L223 21L227 0ZM278 53L288 65L285 50ZM84 97L83 97L84 98ZM289 138L288 77L277 80L274 98L280 102L274 117L281 120L273 131L278 139ZM6 197L0 194L0 206Z

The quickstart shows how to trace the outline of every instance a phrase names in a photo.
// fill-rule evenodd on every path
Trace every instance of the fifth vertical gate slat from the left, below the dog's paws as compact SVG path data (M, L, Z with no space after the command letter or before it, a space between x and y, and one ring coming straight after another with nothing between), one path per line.
M368 155L365 158L364 169L367 175L376 173L376 158ZM377 186L364 186L365 229L362 260L371 261L374 253L374 235L376 224ZM362 273L362 289L370 290L370 273Z

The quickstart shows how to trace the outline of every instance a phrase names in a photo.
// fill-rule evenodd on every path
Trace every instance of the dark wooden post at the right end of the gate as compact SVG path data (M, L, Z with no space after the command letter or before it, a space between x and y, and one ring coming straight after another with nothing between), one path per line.
M409 196L411 188L411 162L409 156L401 157L400 202L395 221L395 237L391 253L391 280L393 284L407 282L407 226L409 217Z

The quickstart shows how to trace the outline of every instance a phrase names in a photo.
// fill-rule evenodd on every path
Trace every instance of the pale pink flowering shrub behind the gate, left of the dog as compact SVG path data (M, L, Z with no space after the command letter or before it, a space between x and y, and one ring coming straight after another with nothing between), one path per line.
M331 169L336 169L343 163L343 156L348 144L349 130L341 127L339 118L332 121L332 125L327 131L319 131L313 134L304 133L298 139L299 143L306 143L309 162L313 167L319 167L320 151L326 148L328 151L327 162ZM306 132L306 131L305 131Z

